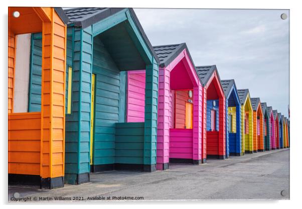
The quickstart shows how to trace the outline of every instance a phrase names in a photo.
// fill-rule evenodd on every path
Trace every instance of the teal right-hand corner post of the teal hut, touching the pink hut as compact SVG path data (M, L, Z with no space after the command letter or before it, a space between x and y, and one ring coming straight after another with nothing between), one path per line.
M145 77L145 121L143 142L143 171L156 171L157 120L158 120L158 82L159 65L146 65Z

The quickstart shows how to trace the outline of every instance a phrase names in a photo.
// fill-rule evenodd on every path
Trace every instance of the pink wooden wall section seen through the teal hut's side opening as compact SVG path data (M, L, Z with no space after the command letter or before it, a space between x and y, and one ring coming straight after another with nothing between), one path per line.
M144 122L145 72L128 71L127 122Z

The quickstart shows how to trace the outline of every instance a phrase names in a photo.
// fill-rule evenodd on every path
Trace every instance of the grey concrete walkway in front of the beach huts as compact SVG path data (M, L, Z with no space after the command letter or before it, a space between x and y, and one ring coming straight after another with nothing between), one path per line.
M153 173L92 173L90 180L54 190L9 186L9 200L15 192L19 192L20 197L32 197L32 200L44 197L45 201L56 201L54 197L59 196L84 201L109 197L110 200L124 197L143 197L143 200L288 199L289 149L226 160L208 159L202 165L171 164L169 170Z

